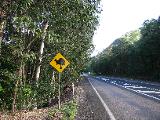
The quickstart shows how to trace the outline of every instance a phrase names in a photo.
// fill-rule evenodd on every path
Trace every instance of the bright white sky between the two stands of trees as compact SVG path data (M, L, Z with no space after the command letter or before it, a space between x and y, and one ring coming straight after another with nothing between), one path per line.
M145 20L160 16L160 0L101 0L101 5L93 56L125 33L140 28Z

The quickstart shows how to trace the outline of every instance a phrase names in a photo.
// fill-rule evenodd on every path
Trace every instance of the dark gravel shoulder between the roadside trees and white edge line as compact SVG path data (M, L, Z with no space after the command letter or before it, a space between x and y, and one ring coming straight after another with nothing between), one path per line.
M109 116L87 78L76 88L78 112L76 120L109 120Z

